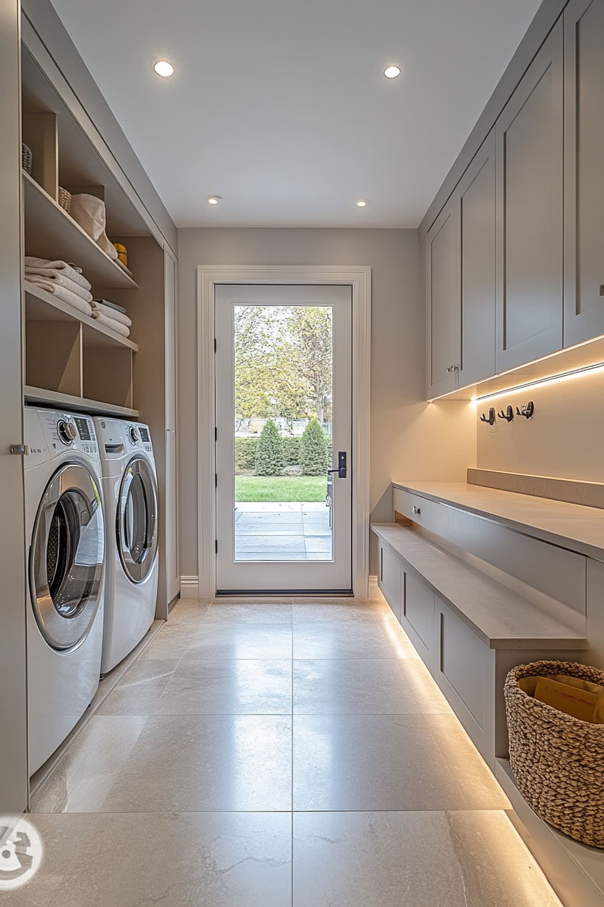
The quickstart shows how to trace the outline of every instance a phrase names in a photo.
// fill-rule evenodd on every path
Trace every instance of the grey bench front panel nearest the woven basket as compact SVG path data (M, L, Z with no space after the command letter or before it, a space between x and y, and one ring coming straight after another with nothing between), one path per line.
M494 765L494 653L436 599L434 677L468 736Z

